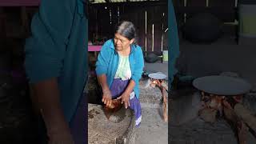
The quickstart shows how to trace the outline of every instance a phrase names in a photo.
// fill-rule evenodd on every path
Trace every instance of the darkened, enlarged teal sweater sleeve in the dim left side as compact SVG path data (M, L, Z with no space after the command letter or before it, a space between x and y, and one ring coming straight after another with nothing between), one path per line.
M74 18L75 2L42 0L26 39L25 68L31 83L57 78L62 70Z

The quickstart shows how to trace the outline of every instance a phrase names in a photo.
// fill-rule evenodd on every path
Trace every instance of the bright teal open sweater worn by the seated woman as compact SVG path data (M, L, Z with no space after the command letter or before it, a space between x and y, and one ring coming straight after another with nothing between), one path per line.
M134 93L139 98L139 79L142 78L142 72L144 67L144 59L142 54L142 48L138 45L130 45L130 70L131 79L134 80ZM119 54L114 48L114 40L110 39L104 43L101 52L98 55L98 61L96 62L96 74L106 74L106 81L110 87L116 71L118 70Z

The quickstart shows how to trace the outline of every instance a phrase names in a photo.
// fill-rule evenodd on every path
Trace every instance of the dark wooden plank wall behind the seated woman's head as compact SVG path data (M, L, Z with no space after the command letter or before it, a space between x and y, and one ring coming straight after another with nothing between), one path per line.
M106 7L106 9L105 9ZM89 39L95 35L113 38L115 24L118 23L118 7L119 21L128 20L134 23L137 31L138 45L147 52L152 52L152 25L154 24L154 53L162 54L163 50L168 50L167 32L163 37L163 46L161 47L162 34L168 26L168 8L166 3L155 2L154 5L139 4L134 5L129 2L119 3L116 5L92 5L89 18ZM110 24L111 10L111 24ZM163 13L165 14L163 16ZM146 22L147 14L147 22ZM162 24L163 29L162 30ZM147 27L147 28L146 28ZM147 39L147 40L145 40Z

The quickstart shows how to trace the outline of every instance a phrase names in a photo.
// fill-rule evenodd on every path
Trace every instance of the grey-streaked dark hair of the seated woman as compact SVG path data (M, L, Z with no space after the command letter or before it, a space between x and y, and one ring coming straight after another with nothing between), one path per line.
M114 33L121 34L123 37L126 37L129 40L134 38L136 41L136 30L132 22L129 22L129 21L119 22L118 25L115 26Z

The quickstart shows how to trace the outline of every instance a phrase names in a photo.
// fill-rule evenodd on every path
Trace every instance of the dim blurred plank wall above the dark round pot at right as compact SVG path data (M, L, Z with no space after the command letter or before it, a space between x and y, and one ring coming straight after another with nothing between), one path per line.
M234 22L237 17L237 8L235 7L235 0L209 0L206 6L206 0L186 0L186 7L184 0L173 0L174 9L178 21L179 28L184 24L184 14L186 18L191 18L194 14L209 12L217 16L222 22ZM224 32L226 34L236 34L237 26L225 25Z

